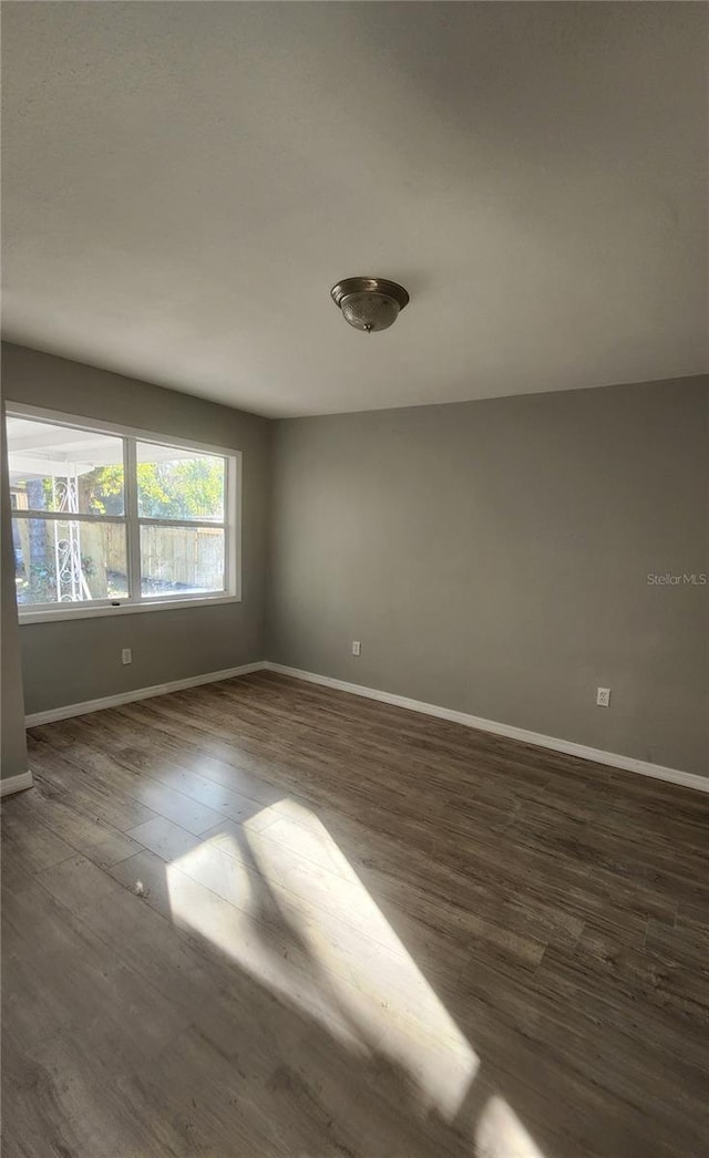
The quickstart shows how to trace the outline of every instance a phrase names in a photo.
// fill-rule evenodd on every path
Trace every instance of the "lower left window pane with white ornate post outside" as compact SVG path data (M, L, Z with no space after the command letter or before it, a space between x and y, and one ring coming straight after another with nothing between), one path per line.
M125 525L13 519L17 603L126 599Z

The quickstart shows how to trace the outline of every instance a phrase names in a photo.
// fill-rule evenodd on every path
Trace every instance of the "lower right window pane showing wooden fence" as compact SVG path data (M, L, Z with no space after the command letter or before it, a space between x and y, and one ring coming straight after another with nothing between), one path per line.
M144 595L224 591L224 530L141 527L140 576Z

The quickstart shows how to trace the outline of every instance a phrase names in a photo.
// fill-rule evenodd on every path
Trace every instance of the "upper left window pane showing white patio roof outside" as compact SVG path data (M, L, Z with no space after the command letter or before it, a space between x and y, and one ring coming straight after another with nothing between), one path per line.
M122 439L8 418L7 444L15 511L124 514Z

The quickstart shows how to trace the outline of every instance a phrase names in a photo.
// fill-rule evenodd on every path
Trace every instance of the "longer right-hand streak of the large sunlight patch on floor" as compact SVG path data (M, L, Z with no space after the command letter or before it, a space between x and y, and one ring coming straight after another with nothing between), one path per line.
M452 1120L477 1070L469 1042L317 816L292 800L273 813L263 831L244 826L260 870L286 881L305 866L280 899L288 919L370 1045Z

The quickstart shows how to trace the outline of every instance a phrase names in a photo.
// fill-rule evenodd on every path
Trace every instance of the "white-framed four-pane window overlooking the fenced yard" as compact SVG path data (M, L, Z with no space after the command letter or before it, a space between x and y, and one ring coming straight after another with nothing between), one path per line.
M239 598L241 456L8 408L22 620Z

